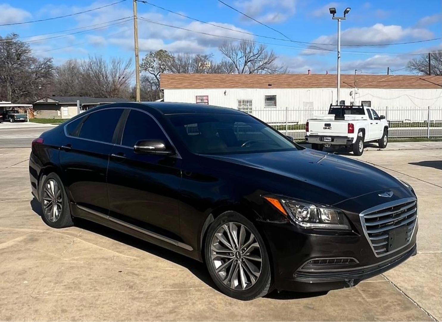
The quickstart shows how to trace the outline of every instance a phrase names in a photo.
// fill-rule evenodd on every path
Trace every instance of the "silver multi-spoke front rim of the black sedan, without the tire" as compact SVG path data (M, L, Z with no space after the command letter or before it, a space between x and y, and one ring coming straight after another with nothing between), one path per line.
M218 278L229 288L243 291L255 285L262 270L262 253L255 235L239 222L218 228L210 245Z

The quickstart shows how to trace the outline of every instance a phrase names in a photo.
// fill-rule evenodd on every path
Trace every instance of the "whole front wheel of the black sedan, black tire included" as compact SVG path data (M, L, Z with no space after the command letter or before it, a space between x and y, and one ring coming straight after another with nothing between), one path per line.
M238 241L244 236L242 243L247 248L246 253L231 239L232 232ZM239 213L227 211L215 219L207 231L204 253L210 276L225 295L248 301L271 291L271 269L266 245L255 226ZM258 258L261 262L256 261Z

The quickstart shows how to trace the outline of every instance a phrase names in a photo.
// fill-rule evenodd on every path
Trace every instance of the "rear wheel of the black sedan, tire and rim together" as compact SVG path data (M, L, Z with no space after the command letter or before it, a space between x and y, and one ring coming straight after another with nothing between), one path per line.
M55 195L57 198L53 198ZM56 211L51 207L55 202ZM41 192L40 203L42 205L42 219L46 225L53 228L65 228L73 226L71 210L66 190L56 173L46 176Z

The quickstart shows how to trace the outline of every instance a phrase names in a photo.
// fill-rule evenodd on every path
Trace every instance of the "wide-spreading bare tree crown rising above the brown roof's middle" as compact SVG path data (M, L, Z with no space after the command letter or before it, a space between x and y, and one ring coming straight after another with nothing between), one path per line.
M218 49L232 62L238 74L285 73L287 70L277 64L278 56L273 50L268 51L267 46L257 46L252 41L224 42Z

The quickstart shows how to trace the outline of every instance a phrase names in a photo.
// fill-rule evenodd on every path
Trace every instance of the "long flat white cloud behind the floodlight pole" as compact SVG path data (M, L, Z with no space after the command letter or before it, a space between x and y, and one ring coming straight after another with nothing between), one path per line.
M385 26L382 23L376 23L372 27L349 28L341 33L341 45L382 45L390 42L398 42L404 39L427 39L433 37L433 33L423 28L403 28L401 26ZM337 35L320 36L312 42L321 44L335 44ZM309 46L303 54L323 54L315 52L319 48L333 49L332 46Z

